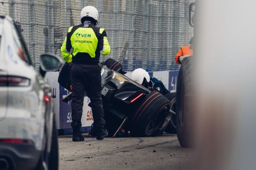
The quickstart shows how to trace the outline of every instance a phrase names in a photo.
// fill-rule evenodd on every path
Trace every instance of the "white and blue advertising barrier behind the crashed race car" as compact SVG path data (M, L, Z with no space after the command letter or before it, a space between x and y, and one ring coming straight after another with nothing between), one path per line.
M71 122L71 102L62 102L61 99L67 96L70 92L63 88L58 83L59 72L48 72L46 78L49 84L52 86L52 101L54 103L54 113L57 122L57 128L59 135L66 135L72 133ZM131 72L125 74L127 77L131 77ZM176 82L178 71L154 71L149 72L150 76L156 77L161 80L166 88L171 92L176 92ZM82 114L82 132L89 132L90 126L93 123L92 109L88 106L90 99L84 96L84 106Z

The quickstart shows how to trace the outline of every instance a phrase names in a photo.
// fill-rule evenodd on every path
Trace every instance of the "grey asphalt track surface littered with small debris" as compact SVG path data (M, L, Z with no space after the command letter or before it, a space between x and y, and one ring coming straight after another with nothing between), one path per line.
M155 137L115 137L102 141L83 133L58 136L59 170L189 170L193 149L180 147L176 134Z

